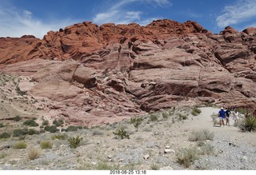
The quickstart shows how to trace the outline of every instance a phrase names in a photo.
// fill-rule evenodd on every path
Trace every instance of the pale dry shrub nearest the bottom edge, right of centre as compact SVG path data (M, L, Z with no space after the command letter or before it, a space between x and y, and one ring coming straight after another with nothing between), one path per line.
M186 168L188 168L192 162L198 159L198 150L194 147L180 149L178 153L176 153L176 158L180 165L184 165Z

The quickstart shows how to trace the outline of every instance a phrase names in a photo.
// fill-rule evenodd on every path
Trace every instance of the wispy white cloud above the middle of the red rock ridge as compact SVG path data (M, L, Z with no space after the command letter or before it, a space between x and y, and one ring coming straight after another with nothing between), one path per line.
M137 22L140 25L146 25L152 22L156 18L142 19L142 14L146 14L143 11L127 10L127 6L132 3L146 3L152 6L172 6L170 0L121 0L115 4L111 4L109 10L96 14L93 18L93 22L99 25L108 22L114 22L115 24L128 24L131 22ZM144 15L145 16L145 15ZM150 21L153 19L152 21Z

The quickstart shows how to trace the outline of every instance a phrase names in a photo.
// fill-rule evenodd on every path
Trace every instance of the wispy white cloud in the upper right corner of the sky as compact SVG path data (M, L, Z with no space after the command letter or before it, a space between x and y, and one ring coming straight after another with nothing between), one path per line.
M239 0L232 6L225 6L223 14L218 16L216 22L219 27L226 27L252 18L256 18L256 1Z

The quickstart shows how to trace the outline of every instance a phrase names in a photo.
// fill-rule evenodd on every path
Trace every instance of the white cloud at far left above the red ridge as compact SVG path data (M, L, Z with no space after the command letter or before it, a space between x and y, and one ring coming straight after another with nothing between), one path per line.
M0 5L0 37L22 37L22 35L34 35L37 38L43 36L50 30L73 24L70 20L42 22L33 18L29 10L19 10L13 6Z

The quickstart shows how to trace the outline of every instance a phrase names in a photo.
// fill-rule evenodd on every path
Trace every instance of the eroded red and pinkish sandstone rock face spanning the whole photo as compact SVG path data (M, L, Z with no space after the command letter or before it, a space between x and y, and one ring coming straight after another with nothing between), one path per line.
M0 38L0 71L32 77L30 94L82 125L201 102L254 107L254 31L211 34L196 22L171 20L83 22L42 40Z

